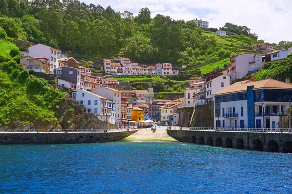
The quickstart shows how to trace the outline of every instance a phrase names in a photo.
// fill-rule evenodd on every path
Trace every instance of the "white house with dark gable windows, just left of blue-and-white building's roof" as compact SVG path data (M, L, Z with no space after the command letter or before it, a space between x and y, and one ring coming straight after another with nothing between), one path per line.
M213 80L207 81L205 83L206 88L206 100L205 102L208 103L213 101L214 97L213 94L226 88L230 85L230 77L228 75L221 75Z

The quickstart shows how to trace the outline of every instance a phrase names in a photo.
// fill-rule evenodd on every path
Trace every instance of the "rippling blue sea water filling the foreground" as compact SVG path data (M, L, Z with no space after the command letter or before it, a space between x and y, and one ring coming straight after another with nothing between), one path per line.
M292 154L178 142L5 145L0 193L292 193Z

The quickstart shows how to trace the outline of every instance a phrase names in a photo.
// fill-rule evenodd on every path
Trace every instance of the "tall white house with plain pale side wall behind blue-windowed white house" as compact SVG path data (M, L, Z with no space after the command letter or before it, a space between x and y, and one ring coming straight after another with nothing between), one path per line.
M121 91L109 88L109 87L99 87L92 90L93 94L99 95L101 97L107 98L108 100L115 103L115 124L121 125Z

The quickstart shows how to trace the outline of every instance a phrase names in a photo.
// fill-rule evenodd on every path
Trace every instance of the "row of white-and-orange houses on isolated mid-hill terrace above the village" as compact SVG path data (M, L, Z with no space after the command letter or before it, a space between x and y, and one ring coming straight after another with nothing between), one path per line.
M104 59L103 69L107 75L178 75L179 70L175 70L170 63L145 65L131 63L128 58Z

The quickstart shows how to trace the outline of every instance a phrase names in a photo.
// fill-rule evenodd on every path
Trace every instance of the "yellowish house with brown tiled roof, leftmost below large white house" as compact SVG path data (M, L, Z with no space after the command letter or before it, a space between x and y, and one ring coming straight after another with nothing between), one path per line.
M20 64L23 69L34 69L35 72L47 72L50 73L50 65L45 57L32 57L25 56L20 59Z

